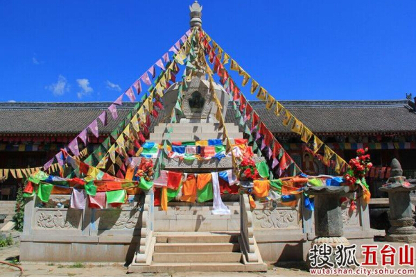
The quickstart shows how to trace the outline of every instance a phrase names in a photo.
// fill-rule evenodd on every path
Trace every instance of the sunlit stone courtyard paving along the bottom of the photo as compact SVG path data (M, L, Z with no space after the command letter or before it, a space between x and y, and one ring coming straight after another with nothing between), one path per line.
M0 260L6 262L18 261L19 259L19 232L5 232L6 235L12 234L15 244L12 246L0 248ZM384 242L375 242L382 246ZM402 244L392 244L400 246ZM416 244L412 244L415 245ZM415 258L416 259L416 258ZM361 262L358 259L358 262ZM0 276L155 276L155 277L245 277L245 276L311 276L309 271L303 263L288 262L284 264L268 265L267 272L167 272L162 274L127 274L127 267L118 263L65 263L65 262L51 262L51 263L22 263L19 265L24 269L24 273L20 275L19 269L10 267L8 265L0 265ZM395 267L396 269L399 267ZM380 275L378 275L380 276Z

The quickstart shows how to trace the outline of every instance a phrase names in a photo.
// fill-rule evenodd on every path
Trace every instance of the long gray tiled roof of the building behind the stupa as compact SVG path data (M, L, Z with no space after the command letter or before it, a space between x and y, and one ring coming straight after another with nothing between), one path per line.
M265 103L250 101L254 110L273 133L289 133ZM389 101L281 101L295 117L315 133L416 133L413 103ZM0 134L54 133L76 134L82 131L110 102L84 103L0 103ZM107 112L109 124L101 133L110 133L133 108L132 103L117 106L119 119ZM164 118L164 111L157 120ZM234 110L228 107L227 122L235 121ZM154 122L157 124L157 122Z

